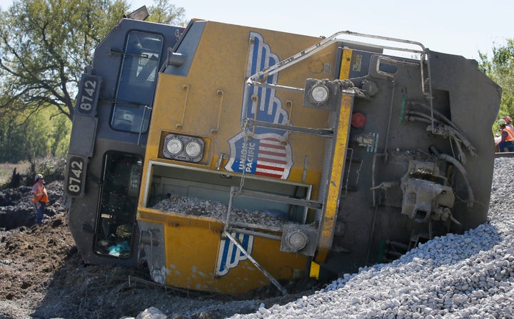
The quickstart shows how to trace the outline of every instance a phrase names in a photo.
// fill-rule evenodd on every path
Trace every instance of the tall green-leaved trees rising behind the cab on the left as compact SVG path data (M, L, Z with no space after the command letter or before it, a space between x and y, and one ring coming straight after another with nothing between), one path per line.
M14 0L0 12L0 108L52 107L71 120L84 66L127 12L125 0ZM183 15L162 0L150 12L165 23Z

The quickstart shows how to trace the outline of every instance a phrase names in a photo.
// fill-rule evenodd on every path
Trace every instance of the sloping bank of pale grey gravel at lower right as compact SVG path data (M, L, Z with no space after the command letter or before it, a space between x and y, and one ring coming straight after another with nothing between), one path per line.
M496 158L488 222L313 295L231 318L514 318L514 158Z

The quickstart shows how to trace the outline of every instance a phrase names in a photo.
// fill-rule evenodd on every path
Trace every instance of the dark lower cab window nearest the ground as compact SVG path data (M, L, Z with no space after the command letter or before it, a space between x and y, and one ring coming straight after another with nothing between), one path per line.
M99 255L118 258L131 255L142 168L140 156L106 154L94 239L94 251Z

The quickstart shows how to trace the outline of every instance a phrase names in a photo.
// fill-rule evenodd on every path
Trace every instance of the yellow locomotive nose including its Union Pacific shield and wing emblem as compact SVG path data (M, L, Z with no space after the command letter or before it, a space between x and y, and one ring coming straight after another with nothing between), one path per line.
M271 218L273 213L286 216L284 223L291 223L291 227L296 223L306 225L314 222L313 214L309 214L306 208L297 209L293 212L296 216L293 216L284 209L286 204L280 201L276 205L271 198L248 202L247 198L241 197L240 203L234 206L267 213L260 221L261 225L240 225L243 223L236 218L226 221L227 211L223 211L223 218L218 219L201 216L201 213L195 216L194 211L152 209L154 201L151 198L157 194L178 194L205 201L221 201L228 208L231 187L241 185L244 189L248 187L251 191L279 196L295 196L293 191L303 188L303 200L316 198L320 191L326 137L273 129L247 128L245 132L241 128L241 112L246 79L252 75L249 74L251 70L260 67L255 64L278 63L278 56L291 56L319 39L211 21L196 22L193 28L202 30L190 68L186 74L175 74L178 71L173 69L180 67L167 66L168 70L159 74L156 88L138 221L148 223L146 229L150 230L153 227L150 225L159 221L158 229L163 231L164 245L163 248L147 246L147 250L164 250L165 263L160 267L160 278L166 277L167 285L182 288L241 293L269 284L261 268L276 280L301 278L308 273L309 256L282 252L283 226L267 226L266 216ZM186 36L183 41L187 40ZM298 68L282 72L280 79L274 79L272 83L303 87L305 79L332 79L336 54L334 44L323 49L320 56L301 61ZM230 62L227 64L224 60L228 57ZM330 111L302 106L301 91L263 88L256 90L250 98L251 106L248 108L252 109L248 112L256 119L315 128L323 128L330 121ZM348 136L350 109L347 107L341 115L341 123L346 126L341 129L343 140ZM201 138L201 159L184 163L181 158L178 161L166 158L171 157L165 153L166 138L176 136L188 138L183 142L184 148L190 138ZM344 146L346 141L341 145L343 152ZM334 160L337 161L336 158ZM336 196L341 188L341 166L337 171ZM167 178L170 179L169 184ZM173 181L174 178L177 181ZM188 182L181 186L184 178ZM189 182L191 178L194 178L194 183ZM156 184L159 191L152 192ZM281 194L284 191L289 193ZM327 213L335 216L337 202L337 197L333 198L333 205L329 208L331 212ZM253 214L251 211L245 213ZM231 226L232 223L236 226ZM333 223L326 227L325 240L330 242ZM236 228L241 228L239 231L242 233L235 231ZM246 252L234 245L226 233L240 242ZM329 248L325 247L325 250ZM254 265L251 259L257 264Z

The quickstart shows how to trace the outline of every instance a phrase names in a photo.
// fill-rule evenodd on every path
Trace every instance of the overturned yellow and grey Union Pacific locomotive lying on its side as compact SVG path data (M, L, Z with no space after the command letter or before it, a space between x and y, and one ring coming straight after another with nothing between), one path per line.
M123 19L81 81L69 227L86 263L216 293L388 262L485 222L500 94L413 41Z

